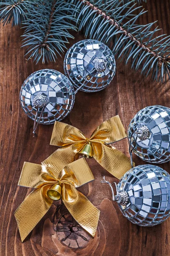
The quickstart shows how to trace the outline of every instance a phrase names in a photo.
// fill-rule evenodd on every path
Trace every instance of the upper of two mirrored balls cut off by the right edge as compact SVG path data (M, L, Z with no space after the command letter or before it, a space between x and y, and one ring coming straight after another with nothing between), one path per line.
M170 160L170 108L155 105L140 110L127 134L133 152L150 163Z

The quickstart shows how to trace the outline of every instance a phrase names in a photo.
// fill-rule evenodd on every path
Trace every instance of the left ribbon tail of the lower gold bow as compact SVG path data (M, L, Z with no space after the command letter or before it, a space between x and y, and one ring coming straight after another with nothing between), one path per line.
M43 189L32 191L14 213L22 242L53 203L51 199L43 197L42 191Z

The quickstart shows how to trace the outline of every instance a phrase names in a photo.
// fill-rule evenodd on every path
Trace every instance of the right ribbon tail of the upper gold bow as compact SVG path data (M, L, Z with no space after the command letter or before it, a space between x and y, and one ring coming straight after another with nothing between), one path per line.
M114 147L93 142L93 150L96 161L119 180L132 168L130 159Z

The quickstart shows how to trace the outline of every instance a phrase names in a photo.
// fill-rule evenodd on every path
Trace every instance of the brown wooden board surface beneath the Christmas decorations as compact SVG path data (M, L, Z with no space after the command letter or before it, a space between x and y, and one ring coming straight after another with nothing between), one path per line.
M162 33L170 34L170 1L148 0L144 7L148 13L139 22L145 24L158 20ZM19 27L0 24L0 256L169 256L170 218L155 227L131 224L111 201L109 187L100 183L103 175L111 182L118 180L94 159L88 163L95 180L82 186L80 191L101 210L95 238L87 236L84 241L82 239L78 243L80 248L71 248L78 246L71 237L67 240L72 239L70 246L59 241L59 232L57 234L53 228L54 217L59 218L54 216L57 205L54 204L21 243L14 211L30 192L30 189L17 186L23 162L41 163L56 147L49 144L53 125L40 125L38 138L32 137L33 122L20 106L20 87L28 75L42 68L54 68L63 73L63 58L50 64L27 63L25 49L20 49L21 34ZM70 46L83 39L83 34L75 34ZM170 82L158 84L150 77L145 79L139 72L130 70L130 66L117 61L116 76L111 84L98 93L77 93L74 108L64 122L79 128L89 137L96 126L119 114L127 130L130 120L140 109L156 104L170 107L169 89ZM115 146L128 155L127 139ZM136 164L144 164L138 157L134 160ZM170 172L169 163L161 167ZM75 230L70 230L74 236Z

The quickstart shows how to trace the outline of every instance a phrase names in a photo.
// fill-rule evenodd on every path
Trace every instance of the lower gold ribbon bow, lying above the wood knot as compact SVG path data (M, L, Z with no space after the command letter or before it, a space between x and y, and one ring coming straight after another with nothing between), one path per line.
M61 186L62 201L73 218L94 236L100 211L76 189L94 180L85 159L81 158L68 164L62 171L56 165L45 161L46 163L42 162L42 165L27 162L23 165L18 185L35 190L25 198L14 213L21 240L23 241L28 236L51 207L53 200L48 197L47 193L55 184Z

